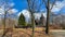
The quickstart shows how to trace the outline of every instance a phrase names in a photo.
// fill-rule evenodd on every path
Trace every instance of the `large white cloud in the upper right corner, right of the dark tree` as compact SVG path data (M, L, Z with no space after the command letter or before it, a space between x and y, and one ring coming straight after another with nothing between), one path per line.
M56 1L51 12L58 12L63 7L65 7L65 0Z

